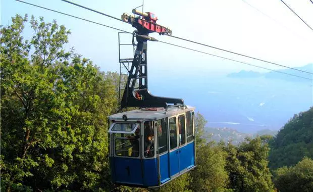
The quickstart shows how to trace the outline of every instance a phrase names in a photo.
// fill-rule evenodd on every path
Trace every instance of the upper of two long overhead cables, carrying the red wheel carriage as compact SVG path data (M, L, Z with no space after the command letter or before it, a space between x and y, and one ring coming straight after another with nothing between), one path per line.
M90 11L95 12L95 13L99 13L99 14L101 14L101 15L108 16L108 15L105 14L105 13L101 13L101 12L98 12L98 11L96 11L96 10L93 10L93 9L90 9L90 8L86 8L86 7L84 7L84 6L81 6L81 5L72 3L72 2L70 2L70 1L68 1L68 0L62 0L62 1L67 2L67 3L70 3L70 4L73 4L73 5L76 5L76 6L78 6L78 7L81 7L81 8L87 9L87 10L90 10ZM108 17L111 17L111 18L114 18L114 19L123 21L123 20L118 19L118 18L113 17L113 16L108 16ZM123 22L125 22L125 21L123 21ZM127 22L126 22L126 23L127 23ZM129 23L128 23L128 24L129 24ZM262 62L265 62L265 63L269 63L269 64L273 64L273 65L277 65L277 66L280 66L280 67L285 67L285 68L288 68L288 69L292 69L292 70L295 70L295 71L300 71L300 72L303 72L303 73L308 73L308 74L313 75L313 73L308 72L308 71L303 71L303 70L300 70L300 69L296 69L296 68L288 67L288 66L285 66L285 65L280 65L280 64L277 64L277 63L274 63L274 62L266 61L266 60L263 60L263 59L258 59L258 58L255 58L255 57L250 57L250 56L247 56L247 55L244 55L244 54L239 54L239 53L232 52L232 51L229 51L229 50L221 49L221 48L216 47L216 46L211 46L211 45L208 45L208 44L196 42L196 41L189 40L189 39L185 39L185 38L182 38L182 37L177 37L177 36L174 36L174 35L169 35L169 34L165 34L165 35L170 36L170 37L173 37L173 38L177 38L177 39L180 39L180 40L192 42L192 43L195 43L195 44L200 44L200 45L203 45L203 46L211 47L211 48L213 48L213 49L217 49L217 50L220 50L220 51L228 52L228 53L231 53L231 54L243 56L243 57L246 57L246 58L250 58L250 59L262 61Z

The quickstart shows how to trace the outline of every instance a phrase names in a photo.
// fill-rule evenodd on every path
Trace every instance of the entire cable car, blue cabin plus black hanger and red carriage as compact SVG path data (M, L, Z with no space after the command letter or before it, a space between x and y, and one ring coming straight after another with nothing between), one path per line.
M156 24L153 13L133 13L142 17L122 15L137 30L119 111L139 109L109 116L111 179L115 184L153 188L195 168L194 108L182 99L156 97L148 91L147 41L157 41L148 34L172 31Z

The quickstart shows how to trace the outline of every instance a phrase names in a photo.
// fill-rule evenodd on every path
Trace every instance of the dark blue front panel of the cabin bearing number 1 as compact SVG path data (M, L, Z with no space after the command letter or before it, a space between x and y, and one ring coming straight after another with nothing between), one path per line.
M111 160L114 162L111 164L114 182L143 185L140 159L114 157Z

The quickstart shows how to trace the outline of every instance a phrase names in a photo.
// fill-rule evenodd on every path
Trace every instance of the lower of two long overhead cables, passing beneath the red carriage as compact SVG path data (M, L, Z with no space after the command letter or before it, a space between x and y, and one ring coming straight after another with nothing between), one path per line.
M35 7L41 8L41 9L45 9L45 10L48 10L48 11L56 12L56 13L59 13L59 14L62 14L62 15L70 16L70 17L73 17L73 18L76 18L76 19L80 19L80 20L83 20L83 21L87 21L87 22L90 22L90 23L94 23L94 24L97 24L97 25L101 25L101 26L104 26L104 27L108 27L108 28L111 28L111 29L115 29L115 30L118 30L118 31L131 33L129 31L125 31L125 30L118 29L118 28L115 28L115 27L111 27L111 26L108 26L108 25L104 25L104 24L101 24L101 23L93 22L93 21L90 21L90 20L87 20L87 19L84 19L84 18L76 17L76 16L73 16L73 15L70 15L70 14L66 14L66 13L63 13L63 12L59 12L59 11L48 9L48 8L41 7L41 6L37 6L37 5L30 4L30 3L27 3L27 2L23 2L23 1L20 1L20 0L15 0L15 1L18 1L18 2L21 2L21 3L24 3L24 4L28 4L28 5L31 5L31 6L35 6ZM221 57L221 56L218 56L218 55L214 55L214 54L210 54L210 53L206 53L206 52L202 52L202 51L198 51L198 50L193 50L193 49L190 49L190 48L185 47L185 46L180 46L180 45L177 45L177 44L173 44L173 43L169 43L169 42L165 42L165 41L160 41L160 40L158 40L158 41L162 42L162 43L165 43L165 44L181 47L183 49L187 49L187 50L190 50L190 51L194 51L194 52L198 52L198 53L202 53L202 54L206 54L206 55L219 57L219 58L222 58L222 59L226 59L226 60L242 63L242 64L245 64L245 65L250 65L250 66L261 68L261 69L267 69L267 70L274 71L274 72L277 72L277 73L282 73L282 74L285 74L285 75L290 75L290 76L294 76L294 77L298 77L298 78L302 78L302 79L307 79L307 80L310 80L310 81L313 80L313 79L310 79L310 78L306 78L306 77L302 77L302 76L298 76L298 75L293 75L293 74L290 74L290 73L285 73L285 72L281 72L281 71L277 71L277 70L273 70L273 69L269 69L269 68L265 68L265 67L260 67L260 66L257 66L257 65L252 65L252 64L249 64L249 63L246 63L246 62L241 62L241 61L238 61L238 60L229 59L229 58Z

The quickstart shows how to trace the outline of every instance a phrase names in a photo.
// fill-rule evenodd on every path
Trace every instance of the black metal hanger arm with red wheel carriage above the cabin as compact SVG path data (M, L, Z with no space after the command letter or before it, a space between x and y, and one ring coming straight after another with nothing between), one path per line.
M128 69L128 78L125 85L123 98L120 102L120 110L127 107L167 108L169 106L168 104L180 104L184 106L184 101L182 99L156 97L150 94L150 92L148 91L147 41L158 41L153 37L149 37L149 33L158 32L160 35L165 33L171 34L171 30L161 25L157 25L155 21L152 22L149 20L149 18L145 18L142 20L139 17L129 17L124 14L122 15L122 17L123 16L125 21L129 22L133 27L137 29L133 32L132 40L132 44L135 45L136 38L137 44L131 68L130 70ZM156 28L154 29L155 26Z

